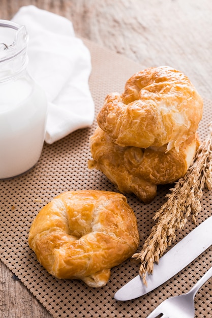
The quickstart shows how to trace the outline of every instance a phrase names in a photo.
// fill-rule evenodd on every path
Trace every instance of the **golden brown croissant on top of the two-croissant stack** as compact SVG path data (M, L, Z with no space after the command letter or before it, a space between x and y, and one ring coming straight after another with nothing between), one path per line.
M106 97L97 121L120 146L178 150L196 132L202 110L187 76L170 67L148 68L127 81L123 94Z

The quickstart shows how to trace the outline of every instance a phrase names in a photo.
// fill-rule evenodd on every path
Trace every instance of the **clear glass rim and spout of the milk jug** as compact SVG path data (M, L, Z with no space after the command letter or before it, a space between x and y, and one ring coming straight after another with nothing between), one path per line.
M14 40L10 45L7 43L0 43L5 46L6 54L0 56L0 62L8 61L17 55L21 54L24 50L27 50L28 34L24 25L20 25L13 21L0 19L0 28L12 28L17 31L14 35ZM10 50L9 50L10 49Z

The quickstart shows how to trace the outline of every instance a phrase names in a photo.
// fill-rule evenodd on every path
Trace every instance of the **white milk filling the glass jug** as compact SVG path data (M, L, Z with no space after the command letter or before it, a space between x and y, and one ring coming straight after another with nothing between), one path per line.
M46 124L44 92L21 76L0 84L0 178L22 174L38 162Z

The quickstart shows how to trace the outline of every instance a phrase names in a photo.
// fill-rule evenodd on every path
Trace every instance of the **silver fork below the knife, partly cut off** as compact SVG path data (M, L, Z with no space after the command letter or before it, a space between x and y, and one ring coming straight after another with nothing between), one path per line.
M212 267L197 281L192 289L183 295L164 300L146 318L156 318L163 314L161 318L194 318L194 296L200 287L212 276Z

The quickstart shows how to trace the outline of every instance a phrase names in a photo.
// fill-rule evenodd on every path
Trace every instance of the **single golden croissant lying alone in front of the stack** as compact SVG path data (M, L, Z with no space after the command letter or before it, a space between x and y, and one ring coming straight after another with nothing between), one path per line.
M70 191L41 209L28 241L50 274L102 287L110 268L136 251L137 219L121 194Z

